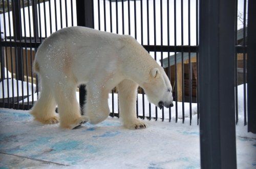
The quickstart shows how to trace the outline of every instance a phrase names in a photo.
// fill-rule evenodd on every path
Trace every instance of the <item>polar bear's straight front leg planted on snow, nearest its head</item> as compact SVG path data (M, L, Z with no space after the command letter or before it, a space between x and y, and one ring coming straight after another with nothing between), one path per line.
M147 125L136 116L136 95L138 84L131 80L123 80L118 84L118 100L120 117L123 126L128 129L143 129Z

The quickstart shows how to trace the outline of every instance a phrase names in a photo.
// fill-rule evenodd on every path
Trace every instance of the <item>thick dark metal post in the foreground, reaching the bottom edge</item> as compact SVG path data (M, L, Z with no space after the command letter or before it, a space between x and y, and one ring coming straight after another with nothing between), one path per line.
M237 168L234 110L235 1L200 1L201 168Z

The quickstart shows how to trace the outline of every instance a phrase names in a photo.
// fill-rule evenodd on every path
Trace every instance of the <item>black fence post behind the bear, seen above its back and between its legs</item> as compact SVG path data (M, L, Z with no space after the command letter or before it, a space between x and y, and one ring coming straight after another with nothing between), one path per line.
M77 26L94 28L93 0L76 1L76 15L77 15ZM80 107L82 108L85 103L86 103L86 86L81 85L79 87Z

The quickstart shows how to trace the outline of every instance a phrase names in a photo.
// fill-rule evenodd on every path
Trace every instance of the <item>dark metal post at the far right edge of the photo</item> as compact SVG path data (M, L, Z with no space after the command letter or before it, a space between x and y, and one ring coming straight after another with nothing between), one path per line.
M255 94L256 94L256 2L248 1L248 67L247 67L247 96L248 96L248 132L256 133L256 105L255 105Z

